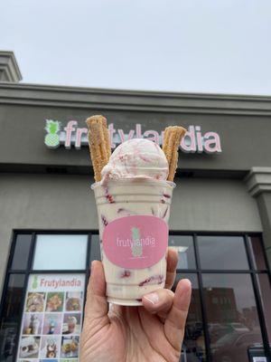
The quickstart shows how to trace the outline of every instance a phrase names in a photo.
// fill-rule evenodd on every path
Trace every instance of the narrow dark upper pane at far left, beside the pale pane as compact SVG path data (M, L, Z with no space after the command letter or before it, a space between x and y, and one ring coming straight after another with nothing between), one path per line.
M16 236L12 270L22 271L27 268L27 262L31 247L32 234L18 234Z

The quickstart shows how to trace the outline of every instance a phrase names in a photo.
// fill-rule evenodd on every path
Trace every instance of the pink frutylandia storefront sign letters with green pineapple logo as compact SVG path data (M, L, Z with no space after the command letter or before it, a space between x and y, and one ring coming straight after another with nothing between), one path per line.
M88 146L88 129L80 128L77 120L70 120L62 125L59 120L46 119L45 130L47 134L44 143L48 148L64 147L67 149ZM142 129L140 123L135 124L135 129L125 133L123 129L115 129L114 123L108 125L111 148L131 138L148 138L158 145L163 144L164 131L158 132L154 129ZM189 126L182 138L180 149L186 153L220 153L220 135L213 131L204 132L200 126Z

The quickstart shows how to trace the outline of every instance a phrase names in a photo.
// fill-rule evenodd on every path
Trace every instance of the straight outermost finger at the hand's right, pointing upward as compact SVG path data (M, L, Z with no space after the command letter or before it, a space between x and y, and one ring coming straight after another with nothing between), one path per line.
M182 279L182 281L178 282L173 298L172 309L169 311L168 316L164 321L164 334L176 350L181 348L191 293L191 281Z

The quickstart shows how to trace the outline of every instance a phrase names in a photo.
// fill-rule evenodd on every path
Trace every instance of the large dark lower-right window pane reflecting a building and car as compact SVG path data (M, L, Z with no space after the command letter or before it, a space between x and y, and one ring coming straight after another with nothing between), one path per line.
M248 348L262 344L249 274L202 274L213 362L247 362Z

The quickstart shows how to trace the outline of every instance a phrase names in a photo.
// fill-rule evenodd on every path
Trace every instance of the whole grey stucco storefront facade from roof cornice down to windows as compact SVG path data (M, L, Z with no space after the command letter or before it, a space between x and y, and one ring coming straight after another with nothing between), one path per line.
M172 230L262 232L258 206L263 225L270 224L269 195L257 205L242 181L251 167L271 165L270 97L0 82L0 290L14 229L98 228L88 148L44 145L45 119L58 119L63 126L76 119L85 127L84 120L97 113L125 133L141 123L143 131L178 124L220 134L221 154L180 152L180 168L195 177L177 180ZM264 236L270 245L268 230ZM271 260L270 249L267 254Z

